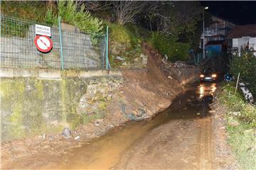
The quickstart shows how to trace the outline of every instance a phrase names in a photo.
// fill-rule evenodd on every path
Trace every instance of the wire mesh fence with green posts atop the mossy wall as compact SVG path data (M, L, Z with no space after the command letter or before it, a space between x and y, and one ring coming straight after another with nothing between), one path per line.
M47 23L37 24L50 26ZM63 69L105 69L105 35L82 33L74 26L65 25L61 31L61 25L50 26L53 48L50 52L43 53L34 44L35 25L31 21L1 15L1 67L61 69L63 66Z

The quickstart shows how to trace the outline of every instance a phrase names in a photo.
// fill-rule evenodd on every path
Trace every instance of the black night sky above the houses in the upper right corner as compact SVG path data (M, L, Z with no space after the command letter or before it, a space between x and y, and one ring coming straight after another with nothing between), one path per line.
M208 12L238 25L256 24L256 1L201 1Z

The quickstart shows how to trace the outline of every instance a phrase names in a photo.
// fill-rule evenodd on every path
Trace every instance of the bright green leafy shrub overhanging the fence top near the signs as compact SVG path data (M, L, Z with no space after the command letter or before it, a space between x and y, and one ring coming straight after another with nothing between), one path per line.
M102 33L102 21L98 18L92 17L90 12L85 10L85 5L80 6L74 1L58 1L58 14L55 14L53 8L48 8L46 12L46 22L58 24L58 16L64 23L71 24L78 27L85 33L100 34Z

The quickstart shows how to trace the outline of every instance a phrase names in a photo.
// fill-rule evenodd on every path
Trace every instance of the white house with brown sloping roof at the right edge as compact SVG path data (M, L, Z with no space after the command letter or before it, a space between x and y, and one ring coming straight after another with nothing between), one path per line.
M227 36L229 52L238 52L247 49L256 56L256 24L235 26Z

